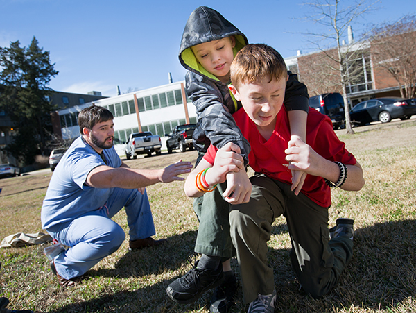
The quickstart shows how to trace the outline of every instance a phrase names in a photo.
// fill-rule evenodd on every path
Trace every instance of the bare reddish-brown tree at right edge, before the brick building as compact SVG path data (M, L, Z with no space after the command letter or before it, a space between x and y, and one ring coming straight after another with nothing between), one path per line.
M383 24L371 34L374 67L397 81L402 98L416 96L416 15Z

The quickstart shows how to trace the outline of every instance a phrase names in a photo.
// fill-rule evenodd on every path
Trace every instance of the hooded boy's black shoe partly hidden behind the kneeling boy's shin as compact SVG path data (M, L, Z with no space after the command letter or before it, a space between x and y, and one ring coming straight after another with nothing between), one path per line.
M227 313L234 305L234 294L239 287L239 280L232 274L221 285L216 287L214 294L211 296L211 305L209 312L211 313Z

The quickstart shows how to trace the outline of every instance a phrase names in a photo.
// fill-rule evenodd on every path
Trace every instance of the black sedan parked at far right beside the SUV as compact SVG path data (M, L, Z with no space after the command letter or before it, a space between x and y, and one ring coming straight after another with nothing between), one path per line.
M363 126L372 121L388 123L392 119L410 119L416 115L416 105L402 98L378 98L358 103L349 112L353 124Z

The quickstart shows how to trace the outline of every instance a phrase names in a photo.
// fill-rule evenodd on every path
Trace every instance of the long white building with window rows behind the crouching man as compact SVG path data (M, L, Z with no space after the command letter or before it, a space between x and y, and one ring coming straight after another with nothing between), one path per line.
M184 81L169 83L146 90L121 94L58 111L63 139L80 135L78 112L90 105L100 105L114 115L114 144L119 155L124 155L123 144L131 133L150 131L162 139L180 124L196 123L196 108L187 99Z

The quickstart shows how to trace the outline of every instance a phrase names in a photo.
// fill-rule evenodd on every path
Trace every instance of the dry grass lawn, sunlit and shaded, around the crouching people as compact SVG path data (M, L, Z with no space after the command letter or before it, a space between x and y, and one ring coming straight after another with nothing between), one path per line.
M274 224L269 261L275 269L276 312L416 312L416 120L392 121L337 130L364 169L360 192L333 191L329 226L338 217L356 220L354 257L340 284L327 296L302 294L291 269L290 238L284 218ZM158 169L180 158L195 162L196 151L164 153L125 161L130 167ZM51 172L0 180L0 239L16 232L39 232L40 208ZM43 255L44 246L0 249L0 296L10 309L35 312L209 312L210 292L191 305L177 305L167 285L190 269L198 221L183 183L148 187L156 238L168 244L116 253L87 273L77 287L61 289ZM127 231L125 213L114 217ZM232 266L238 273L236 260ZM237 294L232 312L245 312Z

